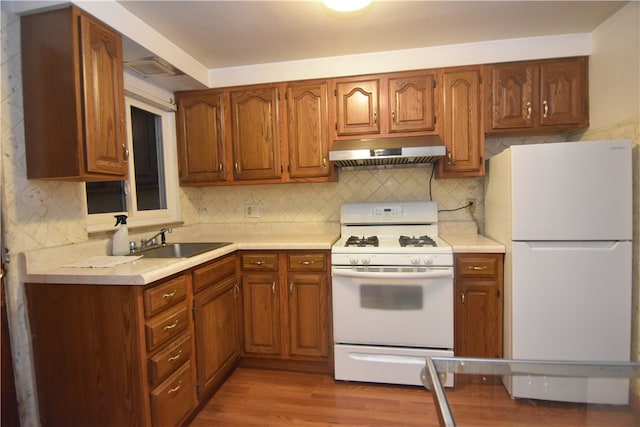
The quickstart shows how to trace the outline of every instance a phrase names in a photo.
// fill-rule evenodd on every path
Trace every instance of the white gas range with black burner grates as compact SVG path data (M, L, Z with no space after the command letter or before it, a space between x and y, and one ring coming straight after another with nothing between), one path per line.
M421 385L426 356L453 356L453 251L438 237L437 204L344 204L340 222L335 378Z

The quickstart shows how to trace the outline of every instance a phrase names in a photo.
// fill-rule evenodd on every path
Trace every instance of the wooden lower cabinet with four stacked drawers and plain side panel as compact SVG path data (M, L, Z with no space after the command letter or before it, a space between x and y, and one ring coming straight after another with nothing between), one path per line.
M27 283L41 425L180 425L197 404L189 281Z

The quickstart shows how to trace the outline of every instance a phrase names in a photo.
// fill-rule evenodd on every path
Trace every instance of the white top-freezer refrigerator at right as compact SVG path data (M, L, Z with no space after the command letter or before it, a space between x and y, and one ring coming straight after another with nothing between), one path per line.
M505 245L504 357L629 361L631 142L512 146L489 160L485 231ZM505 378L513 397L626 404L628 380Z

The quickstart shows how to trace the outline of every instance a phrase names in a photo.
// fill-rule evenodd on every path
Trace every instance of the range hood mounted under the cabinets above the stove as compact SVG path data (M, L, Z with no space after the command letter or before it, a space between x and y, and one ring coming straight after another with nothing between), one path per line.
M329 160L340 167L412 166L432 163L447 150L437 135L337 140Z

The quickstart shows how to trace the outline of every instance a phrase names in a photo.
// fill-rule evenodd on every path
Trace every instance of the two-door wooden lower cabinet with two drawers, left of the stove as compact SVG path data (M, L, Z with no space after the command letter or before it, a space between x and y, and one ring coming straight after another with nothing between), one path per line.
M240 252L241 363L330 372L328 262L328 251Z

